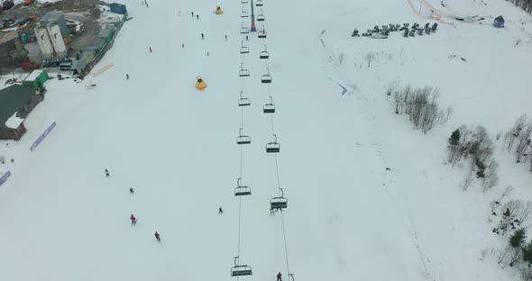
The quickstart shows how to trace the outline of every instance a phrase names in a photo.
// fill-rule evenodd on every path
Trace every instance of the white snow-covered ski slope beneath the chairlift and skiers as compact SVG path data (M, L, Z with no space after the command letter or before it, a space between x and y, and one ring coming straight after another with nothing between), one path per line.
M262 113L268 90L260 82L266 43L295 279L515 280L517 273L500 269L495 258L480 258L482 249L505 243L486 222L497 191L463 193L463 171L444 161L456 126L482 124L495 133L529 112L522 76L532 49L527 26L518 25L529 15L501 0L484 0L487 6L448 0L454 8L448 13L503 14L507 28L440 24L428 36L372 40L350 34L427 21L407 0L263 2L268 37L250 33L251 52L243 57L251 71L244 93L252 102L243 111L243 131L252 137L243 149L243 184L252 195L242 198L240 261L253 275L241 278L273 280L280 271L288 280L281 216L269 211L278 183L275 159L264 150L272 140L271 118ZM114 67L86 78L96 88L50 81L44 103L26 119L23 140L2 142L16 164L0 186L2 280L231 278L238 245L240 1L124 4L133 20L94 71ZM225 14L214 14L216 5ZM363 60L368 51L378 53L370 68ZM203 92L195 88L197 75L208 85ZM412 131L406 117L390 111L384 95L390 81L440 87L440 103L454 114L427 135ZM338 83L349 89L344 96ZM30 152L53 121L56 129ZM503 152L498 157L501 185L530 198L524 168Z

